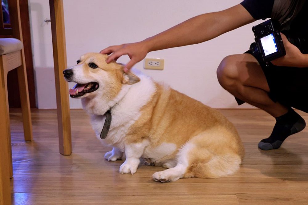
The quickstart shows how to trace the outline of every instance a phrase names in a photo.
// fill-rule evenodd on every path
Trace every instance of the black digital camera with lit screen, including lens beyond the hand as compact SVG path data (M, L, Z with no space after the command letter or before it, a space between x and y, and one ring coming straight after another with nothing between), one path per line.
M253 54L259 54L264 62L269 62L286 55L286 50L280 35L280 24L278 21L270 19L252 27L255 42L250 45ZM298 47L302 53L308 49L308 41L304 37L282 31L290 43Z

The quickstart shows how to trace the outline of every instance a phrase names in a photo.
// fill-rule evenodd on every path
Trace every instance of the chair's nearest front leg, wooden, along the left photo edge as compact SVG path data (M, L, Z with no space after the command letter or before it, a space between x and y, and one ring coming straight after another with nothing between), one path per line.
M3 67L0 66L0 204L11 204L10 157L8 150L9 133L7 129L6 88ZM4 113L4 115L3 115ZM10 146L10 145L9 145Z

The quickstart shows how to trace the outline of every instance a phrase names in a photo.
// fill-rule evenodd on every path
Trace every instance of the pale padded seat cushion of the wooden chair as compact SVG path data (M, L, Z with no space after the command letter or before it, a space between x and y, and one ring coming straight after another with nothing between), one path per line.
M0 55L22 50L23 44L17 38L0 38Z

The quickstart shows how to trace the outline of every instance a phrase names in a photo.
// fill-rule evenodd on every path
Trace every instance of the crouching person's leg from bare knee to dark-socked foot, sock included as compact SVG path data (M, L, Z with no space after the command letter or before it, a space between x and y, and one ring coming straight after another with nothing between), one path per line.
M261 140L262 150L277 149L290 135L306 126L304 119L292 108L270 99L270 88L257 60L250 54L227 56L217 69L217 78L223 88L235 97L256 106L274 118L276 124L269 138Z

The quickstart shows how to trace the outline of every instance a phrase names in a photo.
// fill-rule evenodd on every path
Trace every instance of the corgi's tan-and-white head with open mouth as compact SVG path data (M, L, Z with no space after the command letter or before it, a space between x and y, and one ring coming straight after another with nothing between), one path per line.
M69 90L71 98L94 98L105 95L114 98L123 84L132 85L140 81L135 74L123 71L122 64L106 63L107 55L87 53L77 60L77 65L63 71L68 82L77 84Z

